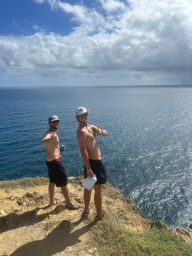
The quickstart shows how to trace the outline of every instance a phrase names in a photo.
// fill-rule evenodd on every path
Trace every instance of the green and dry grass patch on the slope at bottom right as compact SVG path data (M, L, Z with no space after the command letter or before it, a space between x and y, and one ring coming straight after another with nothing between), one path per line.
M192 243L162 228L133 232L105 215L93 227L93 247L99 256L191 256Z

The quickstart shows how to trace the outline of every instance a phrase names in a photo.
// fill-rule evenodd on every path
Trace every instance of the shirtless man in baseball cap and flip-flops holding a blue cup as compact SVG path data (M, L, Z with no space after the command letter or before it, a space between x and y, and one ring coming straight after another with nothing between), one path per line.
M49 118L49 130L45 133L41 144L45 145L46 149L46 165L49 171L49 207L56 205L59 201L54 199L55 185L61 187L61 192L66 200L66 208L70 210L77 210L80 205L75 204L69 197L69 190L67 186L67 173L65 167L60 161L59 137L57 129L59 128L59 118L56 115L51 115Z

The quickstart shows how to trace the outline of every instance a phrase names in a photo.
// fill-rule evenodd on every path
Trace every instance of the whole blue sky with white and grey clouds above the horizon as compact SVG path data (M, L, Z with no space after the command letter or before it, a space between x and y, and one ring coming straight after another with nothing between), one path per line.
M191 0L2 0L0 86L191 85Z

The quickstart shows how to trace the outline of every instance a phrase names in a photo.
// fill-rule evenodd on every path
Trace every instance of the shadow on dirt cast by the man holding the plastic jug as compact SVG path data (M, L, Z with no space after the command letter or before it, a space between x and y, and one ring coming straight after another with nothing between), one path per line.
M77 229L71 232L75 226L78 226L83 220L78 220L71 223L68 220L63 220L53 231L51 231L44 239L26 243L15 250L10 256L52 256L62 252L69 246L81 242L79 237L90 230L94 223ZM71 233L70 233L71 232ZM74 251L76 249L74 248Z

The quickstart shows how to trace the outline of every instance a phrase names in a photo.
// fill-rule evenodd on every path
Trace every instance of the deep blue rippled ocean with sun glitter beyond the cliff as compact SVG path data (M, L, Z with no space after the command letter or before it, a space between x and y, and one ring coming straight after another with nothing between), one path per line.
M90 109L109 184L143 214L190 232L192 223L192 86L0 87L0 180L48 177L48 118L60 118L58 136L68 176L83 174L73 114Z

